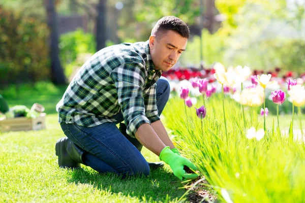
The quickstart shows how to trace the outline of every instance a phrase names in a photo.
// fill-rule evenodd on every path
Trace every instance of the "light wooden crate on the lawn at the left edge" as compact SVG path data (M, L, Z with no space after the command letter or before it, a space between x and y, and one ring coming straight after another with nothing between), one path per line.
M40 130L46 128L46 114L41 113L37 118L0 118L0 130L7 131L25 131L25 130Z

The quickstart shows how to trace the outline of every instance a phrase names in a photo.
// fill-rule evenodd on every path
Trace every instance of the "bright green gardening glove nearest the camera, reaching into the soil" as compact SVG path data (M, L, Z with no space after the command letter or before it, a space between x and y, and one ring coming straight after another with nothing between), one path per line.
M173 171L174 175L178 177L180 180L183 178L186 179L195 179L198 177L197 174L188 174L186 171L183 169L184 166L188 166L189 168L192 168L194 171L197 170L197 167L195 166L194 163L192 163L189 159L177 155L174 152L172 152L169 148L169 146L165 147L159 156L161 161L164 161L167 163L171 170Z

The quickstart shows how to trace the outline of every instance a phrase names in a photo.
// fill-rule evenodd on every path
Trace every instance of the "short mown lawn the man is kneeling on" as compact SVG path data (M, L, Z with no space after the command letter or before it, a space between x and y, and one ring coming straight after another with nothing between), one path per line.
M0 134L0 202L176 202L186 192L178 189L183 184L168 166L147 178L125 180L84 165L83 170L59 168L55 142L64 134L55 105L64 91L63 86L46 84L40 90L3 94L10 107L42 104L47 117L45 130ZM142 154L147 161L159 161L147 149Z

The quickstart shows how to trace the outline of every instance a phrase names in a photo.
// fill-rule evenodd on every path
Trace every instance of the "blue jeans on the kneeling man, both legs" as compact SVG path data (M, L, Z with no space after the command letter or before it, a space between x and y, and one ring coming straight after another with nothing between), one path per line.
M170 93L169 83L161 77L157 81L157 107L161 115ZM142 145L126 133L121 113L114 117L117 122L107 122L94 127L60 123L65 135L82 148L83 162L100 173L113 172L123 177L137 174L149 175L149 166L141 154ZM120 126L116 124L120 123ZM121 131L120 131L121 130Z

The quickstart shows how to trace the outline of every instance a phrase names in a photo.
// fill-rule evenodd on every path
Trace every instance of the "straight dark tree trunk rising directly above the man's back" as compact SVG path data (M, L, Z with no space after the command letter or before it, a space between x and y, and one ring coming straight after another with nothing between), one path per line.
M98 16L96 21L97 51L103 49L106 46L106 5L107 0L99 0Z

